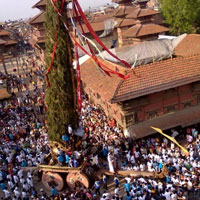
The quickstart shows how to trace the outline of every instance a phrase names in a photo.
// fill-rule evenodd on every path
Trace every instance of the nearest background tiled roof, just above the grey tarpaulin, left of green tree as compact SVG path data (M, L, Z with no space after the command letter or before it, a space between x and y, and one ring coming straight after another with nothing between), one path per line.
M136 24L128 30L122 32L124 37L141 37L169 31L168 28L158 24Z

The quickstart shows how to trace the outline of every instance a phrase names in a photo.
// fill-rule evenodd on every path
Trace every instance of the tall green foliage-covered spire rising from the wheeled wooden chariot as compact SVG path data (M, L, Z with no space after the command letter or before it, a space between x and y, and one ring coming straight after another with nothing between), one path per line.
M76 80L72 67L72 42L66 31L63 19L67 19L63 12L63 19L58 17L50 1L46 7L46 52L45 62L48 69L57 33L57 49L52 69L48 75L50 86L46 86L45 101L47 105L48 137L51 141L59 141L66 128L71 124L77 127L76 112ZM61 0L55 5L61 7Z

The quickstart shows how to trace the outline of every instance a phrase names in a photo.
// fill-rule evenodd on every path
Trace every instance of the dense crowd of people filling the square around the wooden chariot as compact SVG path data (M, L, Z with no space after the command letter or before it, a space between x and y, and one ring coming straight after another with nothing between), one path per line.
M40 71L40 70L39 70ZM33 76L37 76L34 79ZM93 176L89 189L83 186L68 187L58 192L52 187L50 193L38 189L29 167L46 163L50 152L48 130L43 117L44 85L39 88L41 73L33 73L21 81L19 94L0 101L0 189L2 199L100 199L100 200L177 200L187 199L200 189L200 139L199 126L172 129L172 137L184 144L186 155L169 139L154 135L132 141L123 135L114 119L109 119L100 107L83 98L80 125L84 129L81 143L73 152L58 151L58 164L78 167L86 161L86 174ZM22 80L22 77L20 78ZM32 85L33 91L30 91ZM14 86L13 86L14 87ZM62 140L66 146L71 142L74 130L69 126ZM99 170L107 170L95 177ZM167 173L161 178L164 169ZM152 176L126 176L118 170L151 172ZM131 174L131 173L130 173Z

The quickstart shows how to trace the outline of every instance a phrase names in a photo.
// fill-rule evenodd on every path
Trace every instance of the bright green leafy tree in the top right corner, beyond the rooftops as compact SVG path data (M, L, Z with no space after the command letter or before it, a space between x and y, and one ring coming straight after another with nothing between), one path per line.
M172 34L199 33L200 0L160 0L160 2L161 13Z

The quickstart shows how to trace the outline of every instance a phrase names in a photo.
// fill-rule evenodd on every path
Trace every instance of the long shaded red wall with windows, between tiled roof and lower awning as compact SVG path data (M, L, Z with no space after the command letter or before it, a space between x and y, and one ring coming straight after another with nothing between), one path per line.
M126 126L129 126L198 104L200 82L123 102L122 110L125 112Z

